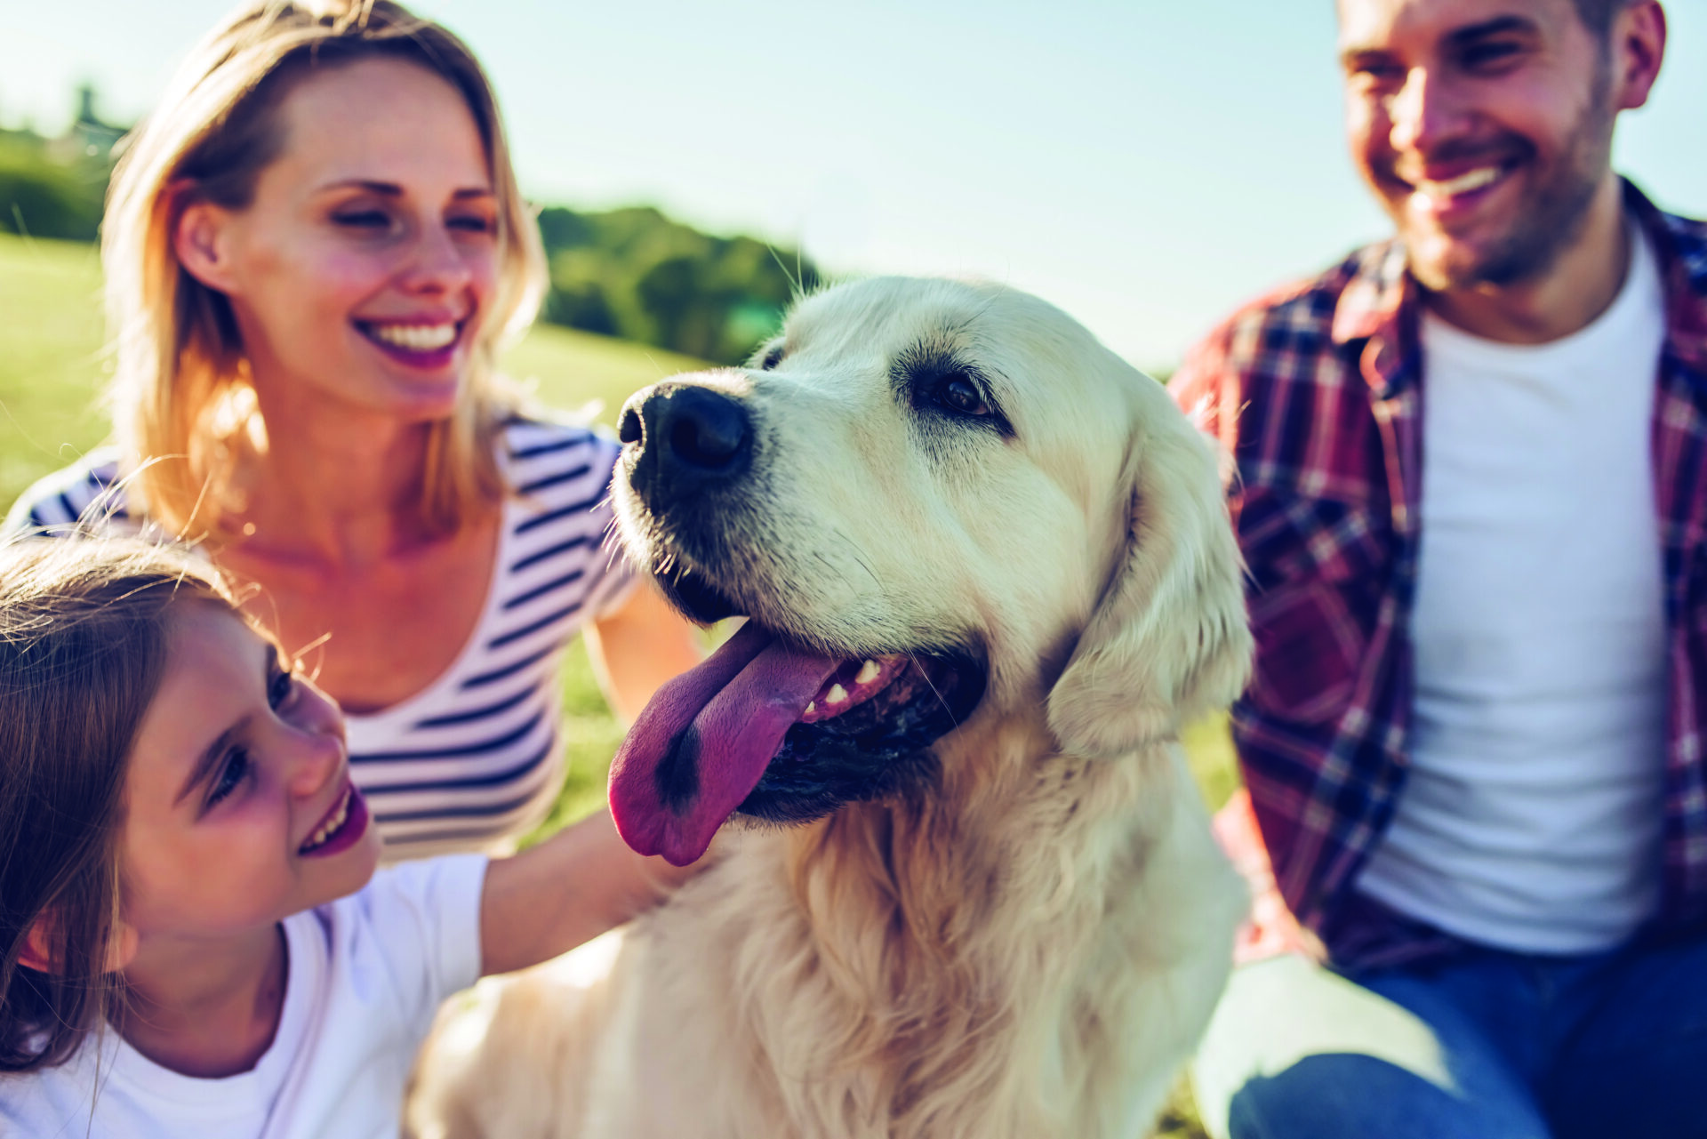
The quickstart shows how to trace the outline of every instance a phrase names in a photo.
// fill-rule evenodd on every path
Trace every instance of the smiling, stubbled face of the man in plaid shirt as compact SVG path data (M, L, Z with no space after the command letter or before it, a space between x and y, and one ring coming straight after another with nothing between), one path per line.
M1429 289L1545 273L1611 178L1605 44L1570 0L1340 0L1352 159Z

